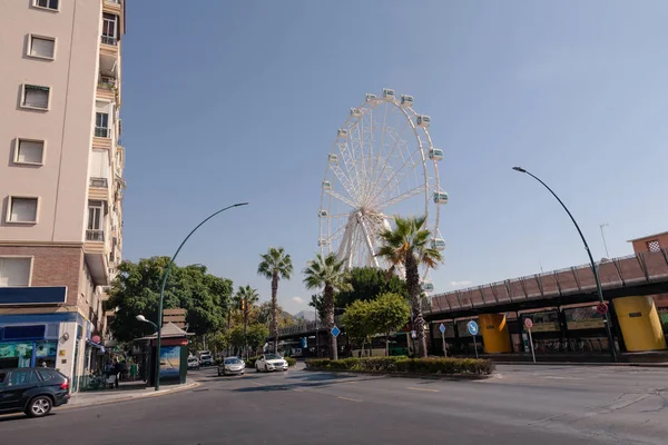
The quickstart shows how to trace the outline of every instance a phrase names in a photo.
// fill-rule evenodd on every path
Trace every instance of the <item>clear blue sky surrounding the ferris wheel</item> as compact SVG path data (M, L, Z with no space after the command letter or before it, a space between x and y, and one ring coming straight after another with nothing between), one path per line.
M124 256L200 263L269 297L284 246L289 312L310 295L326 156L348 108L393 88L445 150L440 291L587 263L668 230L668 3L131 1L124 40ZM603 8L605 6L605 8ZM297 298L294 298L297 297Z

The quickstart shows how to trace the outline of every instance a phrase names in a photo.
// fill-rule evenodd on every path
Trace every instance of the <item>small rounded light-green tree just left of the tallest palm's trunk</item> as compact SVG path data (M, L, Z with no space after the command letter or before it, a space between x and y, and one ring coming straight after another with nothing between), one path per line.
M369 301L369 324L374 334L385 336L385 355L390 355L390 334L400 330L411 318L411 308L405 297L383 294ZM347 325L346 325L347 330Z

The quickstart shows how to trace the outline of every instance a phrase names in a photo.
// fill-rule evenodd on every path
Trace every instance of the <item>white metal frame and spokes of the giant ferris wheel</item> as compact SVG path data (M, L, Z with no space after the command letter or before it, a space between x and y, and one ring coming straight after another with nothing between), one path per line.
M391 93L389 95L387 91ZM434 147L428 126L418 123L418 120L419 118L422 118L422 115L413 110L412 98L410 98L407 105L403 103L403 98L404 97L402 97L401 100L396 99L394 91L392 90L383 90L381 97L367 95L366 100L361 107L351 109L351 115L341 127L338 136L330 152L330 158L327 159L327 167L325 169L324 180L322 181L321 207L318 210L318 245L321 254L327 255L331 251L336 251L340 259L345 258L346 267L348 268L355 266L387 267L383 260L379 260L375 256L377 234L382 228L389 227L387 220L392 219L392 216L384 215L382 210L416 196L424 196L423 215L428 221L426 228L432 233L432 238L440 237L440 205L432 199L435 194L443 192L440 188L438 166L440 159L430 159L429 154ZM374 110L382 106L385 106L382 123L383 128L381 129L380 148L377 149L377 154L374 154ZM400 116L403 116L403 122L397 122L397 126L399 123L403 123L403 128L399 132L396 128L393 128L396 138L387 159L383 159L383 148L385 147L384 138L387 134L386 128L389 128L386 127L389 107L395 107L396 110L401 112ZM354 110L357 110L358 113L353 113ZM364 126L365 117L369 118L367 128ZM406 136L406 141L403 141L402 136L406 127L410 127L411 131L407 131L409 136ZM342 130L347 132L342 136ZM369 134L367 138L365 138L366 134ZM404 146L409 147L407 139L411 136L414 138L416 147L413 152L410 154L411 156L404 158L403 165L395 169L390 166L392 156L400 145L402 146L400 152ZM369 166L365 164L364 150L366 147L369 147ZM420 152L420 157L413 159L418 152ZM331 160L332 155L336 155L336 161L334 162ZM338 159L338 155L341 155L341 159ZM376 157L375 166L373 164L374 156ZM377 168L381 160L384 160L384 162L382 164L382 170L379 174ZM343 162L343 168L340 162ZM422 164L423 184L416 185L416 187L405 190L396 196L392 196L386 200L379 200L380 197L383 197L382 194L387 187L391 187L390 190L393 190L392 187L399 189L401 177L396 177L409 164L413 164L413 168L419 169L416 164L420 162ZM433 176L430 176L428 165L433 168ZM367 171L367 167L370 167L372 171ZM384 176L385 170L389 167L389 175L392 175L393 170L394 174L392 176ZM330 172L333 175L331 178ZM370 172L371 179L369 179ZM336 190L332 187L335 181L337 181L343 190ZM393 181L396 182L393 184ZM325 187L326 184L330 185L328 188ZM382 186L382 188L379 189L380 186ZM347 212L333 215L333 200L338 201L338 205L347 206ZM430 201L433 204L433 209L430 209ZM431 225L429 225L430 216L433 217L433 219L431 219ZM332 222L335 218L347 218L347 221L332 233ZM336 241L338 241L338 246L337 248L333 248L333 243ZM363 250L366 250L366 264L355 261L355 254L358 258L363 257ZM399 273L402 274L403 271L399 270ZM428 281L429 267L422 266L421 277L423 283Z

